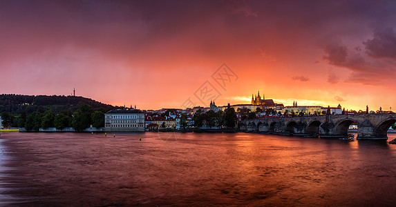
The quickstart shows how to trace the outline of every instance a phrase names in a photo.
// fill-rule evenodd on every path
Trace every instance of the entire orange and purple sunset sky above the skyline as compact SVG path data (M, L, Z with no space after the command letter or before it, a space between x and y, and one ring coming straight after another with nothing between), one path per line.
M396 110L395 1L0 0L0 93Z

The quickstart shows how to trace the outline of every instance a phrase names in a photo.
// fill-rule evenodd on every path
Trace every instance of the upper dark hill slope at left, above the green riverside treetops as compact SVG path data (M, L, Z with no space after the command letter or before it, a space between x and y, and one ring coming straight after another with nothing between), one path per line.
M76 96L59 96L59 95L0 95L0 113L31 113L31 112L45 112L46 110L53 110L53 112L60 112L62 110L76 110L79 105L87 104L94 109L102 108L104 111L113 110L115 107L109 104L101 103L93 99Z

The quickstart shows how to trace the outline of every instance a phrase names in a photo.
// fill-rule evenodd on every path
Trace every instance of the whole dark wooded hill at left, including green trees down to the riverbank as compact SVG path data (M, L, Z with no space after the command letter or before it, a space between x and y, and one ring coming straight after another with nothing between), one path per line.
M104 113L115 107L93 99L75 96L0 95L0 114L4 127L39 128L73 127L82 131L104 126Z

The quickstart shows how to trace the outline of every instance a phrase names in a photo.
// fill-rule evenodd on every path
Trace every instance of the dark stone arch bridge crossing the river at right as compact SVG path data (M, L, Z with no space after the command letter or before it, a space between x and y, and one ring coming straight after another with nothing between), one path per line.
M273 117L243 120L238 128L245 132L309 137L345 137L353 122L357 139L388 139L387 131L396 122L396 113Z

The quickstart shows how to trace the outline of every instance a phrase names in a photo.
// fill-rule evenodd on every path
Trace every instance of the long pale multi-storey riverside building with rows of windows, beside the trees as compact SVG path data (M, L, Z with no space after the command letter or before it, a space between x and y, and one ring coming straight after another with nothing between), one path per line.
M104 114L106 132L144 132L144 112L136 109L110 110Z

